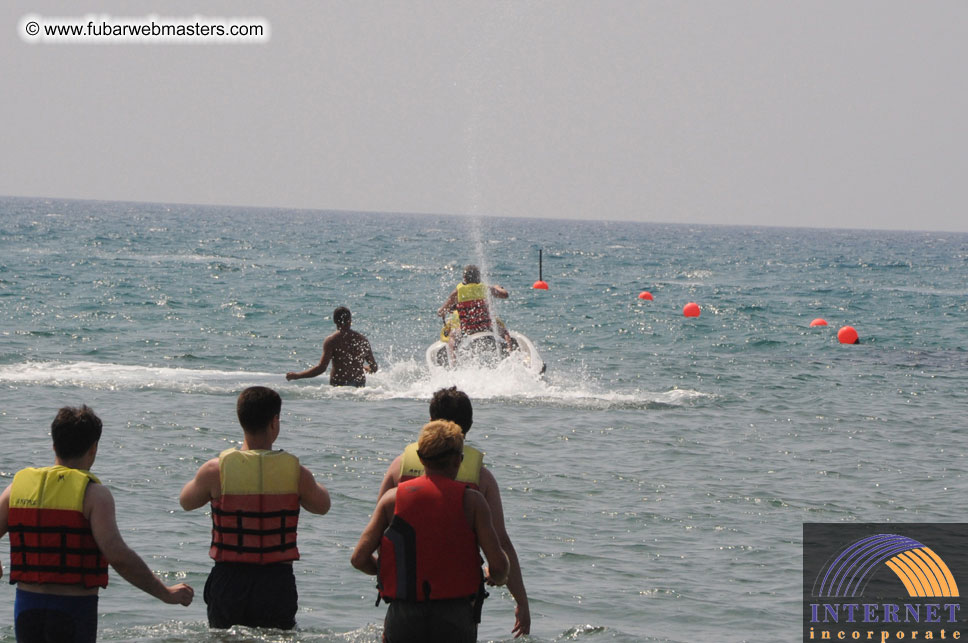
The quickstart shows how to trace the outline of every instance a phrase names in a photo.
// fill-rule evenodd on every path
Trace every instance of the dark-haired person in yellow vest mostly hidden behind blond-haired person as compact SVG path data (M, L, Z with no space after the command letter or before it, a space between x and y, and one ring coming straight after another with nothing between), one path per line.
M460 426L461 431L466 436L474 422L474 409L471 406L470 398L467 397L466 393L458 390L456 386L438 390L430 400L430 419L454 422ZM423 475L424 465L417 453L418 450L419 443L409 444L403 453L390 463L386 474L383 476L378 497L382 498L388 491L399 486L401 482ZM484 466L484 454L469 446L466 442L463 443L462 461L455 479L478 489L487 501L501 548L505 551L511 563L507 586L516 603L514 627L511 631L515 638L529 634L531 632L531 608L528 603L528 592L524 587L524 577L521 574L518 554L504 525L504 505L501 502L501 489L494 478L494 474Z

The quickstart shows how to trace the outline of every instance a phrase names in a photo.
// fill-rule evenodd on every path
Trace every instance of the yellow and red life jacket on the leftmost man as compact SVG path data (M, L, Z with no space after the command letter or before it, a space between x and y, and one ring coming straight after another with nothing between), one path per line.
M61 465L18 471L10 485L10 582L108 586L108 563L84 517L93 474Z

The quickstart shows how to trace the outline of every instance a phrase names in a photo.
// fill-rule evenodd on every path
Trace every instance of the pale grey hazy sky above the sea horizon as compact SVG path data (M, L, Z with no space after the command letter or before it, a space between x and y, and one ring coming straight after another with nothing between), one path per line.
M92 13L256 16L271 37L18 32ZM32 0L0 19L0 195L968 231L963 0Z

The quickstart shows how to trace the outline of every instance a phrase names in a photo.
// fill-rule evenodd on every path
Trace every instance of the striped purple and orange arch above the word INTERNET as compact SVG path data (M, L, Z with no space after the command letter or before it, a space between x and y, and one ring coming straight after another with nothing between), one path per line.
M877 534L840 551L817 577L813 595L822 598L863 596L880 565L893 571L912 598L953 598L958 584L930 547L907 536Z

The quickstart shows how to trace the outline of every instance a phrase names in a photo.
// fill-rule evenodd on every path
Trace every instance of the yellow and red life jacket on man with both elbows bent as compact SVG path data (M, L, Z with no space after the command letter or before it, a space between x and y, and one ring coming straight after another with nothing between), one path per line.
M267 565L299 559L299 459L284 451L226 449L218 457L222 495L212 500L219 562Z

